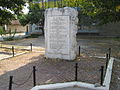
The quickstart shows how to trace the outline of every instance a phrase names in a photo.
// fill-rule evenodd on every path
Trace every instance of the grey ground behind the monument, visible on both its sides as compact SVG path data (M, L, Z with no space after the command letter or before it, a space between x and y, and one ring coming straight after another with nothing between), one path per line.
M78 45L81 46L81 52L94 56L104 57L108 52L108 48L112 48L112 56L120 57L120 42L109 38L88 38L88 37L77 37ZM33 43L34 47L45 48L44 37L39 38L15 40L3 42L4 44L17 45L17 46L30 46Z

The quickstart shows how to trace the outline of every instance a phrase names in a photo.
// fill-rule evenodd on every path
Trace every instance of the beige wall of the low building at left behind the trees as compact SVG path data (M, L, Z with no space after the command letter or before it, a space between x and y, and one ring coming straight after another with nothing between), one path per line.
M17 32L26 32L27 31L27 26L21 26L21 25L8 25L7 29L15 30L17 29Z

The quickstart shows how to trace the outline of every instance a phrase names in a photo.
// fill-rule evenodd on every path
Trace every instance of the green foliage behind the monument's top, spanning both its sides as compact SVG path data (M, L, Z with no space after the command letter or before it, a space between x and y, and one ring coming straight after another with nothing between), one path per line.
M42 1L42 0L33 0ZM54 2L55 1L55 2ZM44 23L43 11L53 7L79 7L79 24L106 24L120 21L120 0L51 0L49 2L29 3L30 12L20 17L22 25ZM119 7L119 8L118 8Z

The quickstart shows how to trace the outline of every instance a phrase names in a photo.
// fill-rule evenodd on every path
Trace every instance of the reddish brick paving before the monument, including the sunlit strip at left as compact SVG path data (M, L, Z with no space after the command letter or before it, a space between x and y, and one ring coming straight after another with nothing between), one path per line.
M37 85L74 81L76 62L78 62L79 66L78 81L99 83L99 69L101 65L104 65L103 59L82 58L80 61L50 60L45 59L44 55L40 55L40 53L33 52L0 62L2 67L0 68L0 90L8 90L10 75L14 76L13 81L15 83L24 82L29 77L34 65L37 68ZM31 76L24 85L13 84L13 90L29 90L32 86Z

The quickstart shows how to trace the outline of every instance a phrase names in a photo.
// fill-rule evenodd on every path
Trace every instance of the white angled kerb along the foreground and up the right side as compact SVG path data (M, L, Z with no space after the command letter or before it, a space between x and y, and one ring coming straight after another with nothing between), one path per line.
M75 86L77 86L78 88L87 88L88 90L89 89L90 90L109 90L113 62L114 62L114 58L111 58L108 63L103 86L96 86L95 84L89 84L89 83L83 83L83 82L65 82L65 83L56 83L56 84L35 86L30 90L61 89L61 88L69 88L69 87L72 88Z

